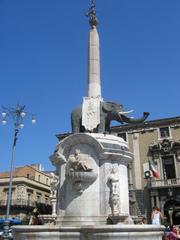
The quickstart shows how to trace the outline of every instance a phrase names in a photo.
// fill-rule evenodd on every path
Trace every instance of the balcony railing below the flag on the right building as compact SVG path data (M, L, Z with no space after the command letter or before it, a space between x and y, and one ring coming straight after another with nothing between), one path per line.
M149 188L166 188L166 187L180 187L180 178L150 180Z

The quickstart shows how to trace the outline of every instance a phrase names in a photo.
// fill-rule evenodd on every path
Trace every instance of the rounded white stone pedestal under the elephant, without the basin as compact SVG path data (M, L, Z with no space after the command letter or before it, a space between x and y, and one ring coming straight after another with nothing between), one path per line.
M51 156L59 175L57 223L62 226L128 222L127 143L119 137L78 133L65 138Z

